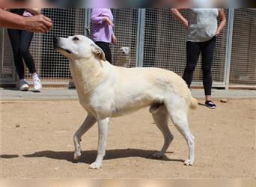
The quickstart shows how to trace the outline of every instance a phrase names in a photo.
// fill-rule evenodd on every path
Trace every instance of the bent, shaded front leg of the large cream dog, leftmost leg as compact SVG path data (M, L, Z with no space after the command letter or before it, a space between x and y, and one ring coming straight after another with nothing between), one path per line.
M80 139L82 135L84 135L85 132L87 132L88 129L90 129L91 126L93 126L94 123L96 123L96 121L97 120L95 119L94 116L92 116L91 114L88 114L87 117L85 118L85 121L82 123L82 126L80 126L79 129L76 131L73 137L73 141L75 145L75 153L74 153L75 160L79 159L81 156Z

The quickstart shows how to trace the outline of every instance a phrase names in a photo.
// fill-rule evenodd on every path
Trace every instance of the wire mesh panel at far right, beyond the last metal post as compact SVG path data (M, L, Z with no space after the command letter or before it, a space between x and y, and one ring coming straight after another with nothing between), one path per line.
M234 10L230 83L256 85L256 10Z

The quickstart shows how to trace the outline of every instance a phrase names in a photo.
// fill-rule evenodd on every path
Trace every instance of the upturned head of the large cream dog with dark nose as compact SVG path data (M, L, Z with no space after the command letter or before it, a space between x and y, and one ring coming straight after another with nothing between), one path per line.
M53 46L62 55L72 60L80 58L91 58L95 55L96 58L106 61L105 54L99 46L91 39L82 35L72 37L54 37Z

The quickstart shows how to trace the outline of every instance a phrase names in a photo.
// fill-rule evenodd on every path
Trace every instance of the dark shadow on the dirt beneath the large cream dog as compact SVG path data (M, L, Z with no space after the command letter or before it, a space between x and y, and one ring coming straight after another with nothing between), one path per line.
M106 150L105 160L108 159L121 159L128 157L141 157L145 159L154 159L153 153L156 153L156 150L138 150L138 149L120 149L120 150ZM33 154L23 155L26 158L34 158L34 157L46 157L49 159L59 159L59 160L67 160L68 162L82 162L91 164L95 161L97 156L97 150L85 150L82 151L82 156L79 160L74 161L73 159L73 151L52 151L52 150L44 150L39 151ZM167 152L173 153L173 152ZM158 159L157 159L158 160ZM173 162L184 162L182 159L168 159L167 156L163 157L163 161L173 161Z

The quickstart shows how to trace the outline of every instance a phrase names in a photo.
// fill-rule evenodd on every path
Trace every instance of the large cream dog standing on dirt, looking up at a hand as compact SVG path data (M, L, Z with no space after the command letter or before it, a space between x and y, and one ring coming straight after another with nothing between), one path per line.
M97 159L90 168L101 168L106 153L106 140L110 117L118 117L150 106L156 126L164 136L164 144L155 158L164 156L173 135L168 128L168 117L189 146L192 165L194 137L189 131L187 112L198 102L191 96L186 83L177 74L153 67L116 67L105 59L104 52L84 36L55 37L54 46L70 59L70 70L76 85L79 102L88 112L82 126L74 135L74 159L81 156L80 139L94 123L98 123L99 139ZM139 128L138 128L139 130Z

